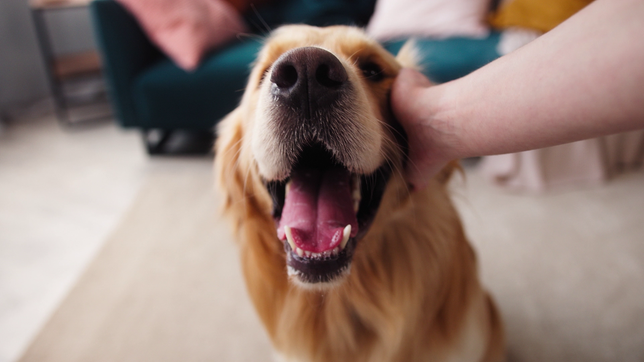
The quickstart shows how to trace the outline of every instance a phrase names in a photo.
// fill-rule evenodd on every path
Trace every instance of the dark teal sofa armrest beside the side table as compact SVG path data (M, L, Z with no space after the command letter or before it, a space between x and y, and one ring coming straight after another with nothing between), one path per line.
M163 58L163 53L118 2L94 0L90 11L117 120L123 127L136 127L139 122L132 100L133 81L143 69Z

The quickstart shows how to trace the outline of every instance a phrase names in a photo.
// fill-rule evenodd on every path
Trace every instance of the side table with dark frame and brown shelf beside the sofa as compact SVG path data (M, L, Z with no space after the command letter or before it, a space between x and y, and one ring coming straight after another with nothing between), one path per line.
M87 8L91 0L31 0L29 5L34 19L38 44L42 52L47 78L54 99L56 117L63 125L77 122L104 119L111 112L72 120L72 108L87 106L92 102L74 100L65 90L67 82L82 78L102 79L101 61L95 50L72 54L55 55L47 26L46 13L56 11L80 10ZM106 93L103 90L103 95ZM95 103L95 102L94 102Z

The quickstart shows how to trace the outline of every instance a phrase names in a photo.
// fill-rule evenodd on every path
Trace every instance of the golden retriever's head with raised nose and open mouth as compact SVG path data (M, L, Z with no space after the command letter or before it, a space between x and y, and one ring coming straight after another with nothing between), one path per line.
M359 29L282 27L221 123L226 206L242 228L248 218L273 221L271 242L298 284L341 280L392 174L402 180L406 142L388 103L401 67Z

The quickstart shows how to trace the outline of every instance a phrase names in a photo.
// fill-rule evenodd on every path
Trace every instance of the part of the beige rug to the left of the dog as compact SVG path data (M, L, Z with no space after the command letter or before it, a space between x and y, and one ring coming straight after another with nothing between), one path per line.
M211 166L188 163L152 172L22 361L269 360Z

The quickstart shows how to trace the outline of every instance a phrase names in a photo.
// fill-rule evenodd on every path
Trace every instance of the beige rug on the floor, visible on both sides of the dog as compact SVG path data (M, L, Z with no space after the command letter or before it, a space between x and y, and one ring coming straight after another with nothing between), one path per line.
M644 360L644 174L511 195L468 172L455 199L511 361ZM209 165L155 172L21 361L270 361Z

